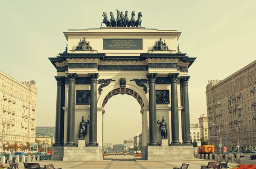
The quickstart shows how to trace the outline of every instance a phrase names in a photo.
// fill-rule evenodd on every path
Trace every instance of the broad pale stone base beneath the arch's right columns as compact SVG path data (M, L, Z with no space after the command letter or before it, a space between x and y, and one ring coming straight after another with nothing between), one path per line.
M148 161L172 161L194 159L193 146L148 146L146 154Z

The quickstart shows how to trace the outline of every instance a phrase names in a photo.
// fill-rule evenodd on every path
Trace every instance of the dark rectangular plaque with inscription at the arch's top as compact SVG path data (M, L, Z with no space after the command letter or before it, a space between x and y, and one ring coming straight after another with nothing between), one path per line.
M142 39L103 39L103 50L142 49Z

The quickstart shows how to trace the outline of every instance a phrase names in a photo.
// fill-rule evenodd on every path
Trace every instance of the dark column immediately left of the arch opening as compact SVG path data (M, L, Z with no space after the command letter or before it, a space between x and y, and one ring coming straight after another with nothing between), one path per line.
M97 143L97 79L99 73L88 73L90 77L90 137L88 146L98 146Z

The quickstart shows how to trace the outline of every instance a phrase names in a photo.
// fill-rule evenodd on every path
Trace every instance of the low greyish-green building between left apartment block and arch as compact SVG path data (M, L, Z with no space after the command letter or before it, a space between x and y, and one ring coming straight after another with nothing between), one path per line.
M50 137L52 143L55 142L55 127L35 127L35 136L36 137Z

